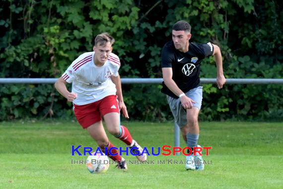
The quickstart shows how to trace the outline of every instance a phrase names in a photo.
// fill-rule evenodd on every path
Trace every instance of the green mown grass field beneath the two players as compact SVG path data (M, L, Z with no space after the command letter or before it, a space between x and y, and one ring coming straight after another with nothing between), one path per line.
M141 146L174 146L173 123L124 123ZM184 165L156 165L180 156L148 156L155 165L111 165L106 174L91 175L85 165L71 165L86 156L71 156L71 145L96 148L76 122L0 123L0 189L282 189L283 123L201 122L202 146L212 146L205 171ZM125 147L110 137L116 145ZM182 146L185 143L181 141ZM133 156L124 156L135 160Z

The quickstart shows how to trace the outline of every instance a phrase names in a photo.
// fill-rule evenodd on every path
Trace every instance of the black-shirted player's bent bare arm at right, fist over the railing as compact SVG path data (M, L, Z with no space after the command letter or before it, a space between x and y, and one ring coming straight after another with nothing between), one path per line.
M226 79L223 75L221 51L217 45L213 45L213 47L214 47L213 56L214 56L216 66L217 66L216 84L217 84L218 89L222 89L223 85L226 82Z

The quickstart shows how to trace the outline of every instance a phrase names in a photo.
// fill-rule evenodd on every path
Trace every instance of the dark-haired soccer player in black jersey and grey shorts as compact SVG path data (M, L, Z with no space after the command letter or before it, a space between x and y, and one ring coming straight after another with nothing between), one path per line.
M198 115L202 105L203 87L200 83L200 64L209 56L214 56L217 66L217 87L221 89L226 81L222 69L220 48L210 42L205 44L191 43L191 25L178 21L172 28L172 41L162 49L162 93L173 113L182 136L192 150L198 145ZM204 170L202 156L186 157L187 170Z

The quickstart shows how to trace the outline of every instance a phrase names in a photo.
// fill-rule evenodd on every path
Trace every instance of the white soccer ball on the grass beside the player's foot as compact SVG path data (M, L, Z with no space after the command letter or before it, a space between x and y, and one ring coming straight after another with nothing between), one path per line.
M92 174L106 173L109 168L109 159L104 154L97 153L87 157L87 169Z

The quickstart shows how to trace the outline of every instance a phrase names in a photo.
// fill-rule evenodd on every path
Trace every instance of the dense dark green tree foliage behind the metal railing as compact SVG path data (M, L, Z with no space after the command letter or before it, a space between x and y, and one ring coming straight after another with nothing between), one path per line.
M122 78L160 78L160 52L172 25L187 20L192 40L219 45L226 78L282 78L283 12L280 0L2 0L0 77L60 77L109 32ZM215 78L213 57L202 78ZM171 119L160 85L123 85L130 116ZM283 86L204 85L202 120L282 119ZM52 85L0 85L0 120L70 117L71 103Z

